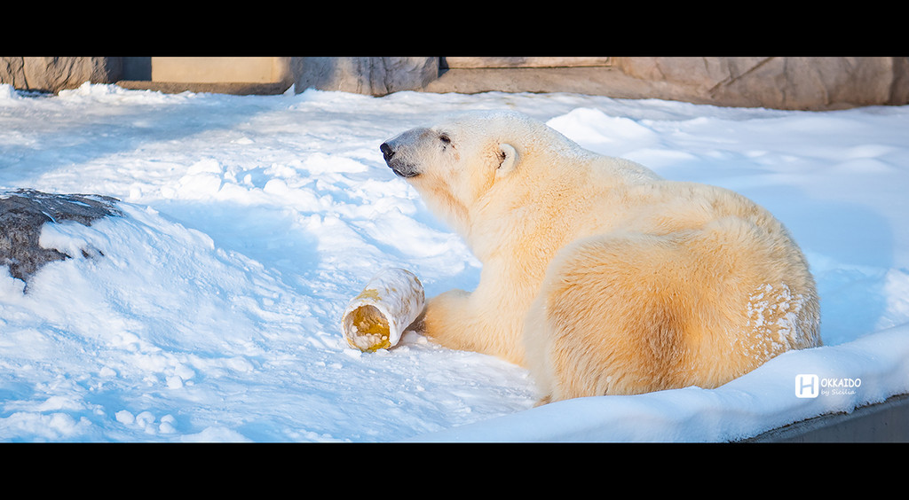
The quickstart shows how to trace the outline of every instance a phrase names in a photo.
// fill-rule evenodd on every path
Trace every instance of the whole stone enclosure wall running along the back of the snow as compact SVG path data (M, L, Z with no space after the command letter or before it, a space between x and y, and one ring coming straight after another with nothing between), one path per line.
M229 68L252 65L254 59L255 64L268 66L267 75L249 82L255 77L229 74ZM218 60L213 67L222 72L220 81L217 74L207 74L205 82L180 76L181 64L186 74L205 74L203 66L213 63L206 60ZM168 74L160 70L155 75L155 67L165 66L170 68ZM135 70L143 67L145 71ZM85 82L162 92L283 93L291 85L298 93L316 88L370 95L399 91L572 92L825 110L909 103L909 58L0 57L0 83L17 89L55 93Z

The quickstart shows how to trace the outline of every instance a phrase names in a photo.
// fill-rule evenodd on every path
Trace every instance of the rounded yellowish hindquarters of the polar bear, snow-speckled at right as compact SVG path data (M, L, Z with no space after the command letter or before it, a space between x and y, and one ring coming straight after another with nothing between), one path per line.
M527 342L559 374L553 399L717 387L820 345L814 279L779 221L709 186L648 192L649 215L574 240L547 270Z

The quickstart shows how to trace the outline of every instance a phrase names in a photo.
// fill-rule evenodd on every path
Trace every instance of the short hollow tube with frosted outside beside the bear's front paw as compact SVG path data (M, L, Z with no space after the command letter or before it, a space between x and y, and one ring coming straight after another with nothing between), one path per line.
M423 312L423 284L408 270L382 270L345 309L341 329L347 343L374 352L398 343L405 328Z

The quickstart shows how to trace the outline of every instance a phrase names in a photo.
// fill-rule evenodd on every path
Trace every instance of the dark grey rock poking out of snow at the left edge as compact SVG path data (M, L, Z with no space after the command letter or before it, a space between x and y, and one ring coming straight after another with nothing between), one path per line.
M39 244L45 223L75 221L85 226L102 217L121 216L115 198L91 194L48 194L18 190L0 194L0 265L27 280L47 262L73 256ZM83 250L88 255L87 250Z

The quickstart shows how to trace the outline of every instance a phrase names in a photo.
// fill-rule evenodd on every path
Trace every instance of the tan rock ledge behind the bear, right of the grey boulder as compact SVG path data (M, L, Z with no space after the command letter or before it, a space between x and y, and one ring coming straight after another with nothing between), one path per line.
M458 57L445 63L425 91L586 93L813 111L909 104L904 56Z

